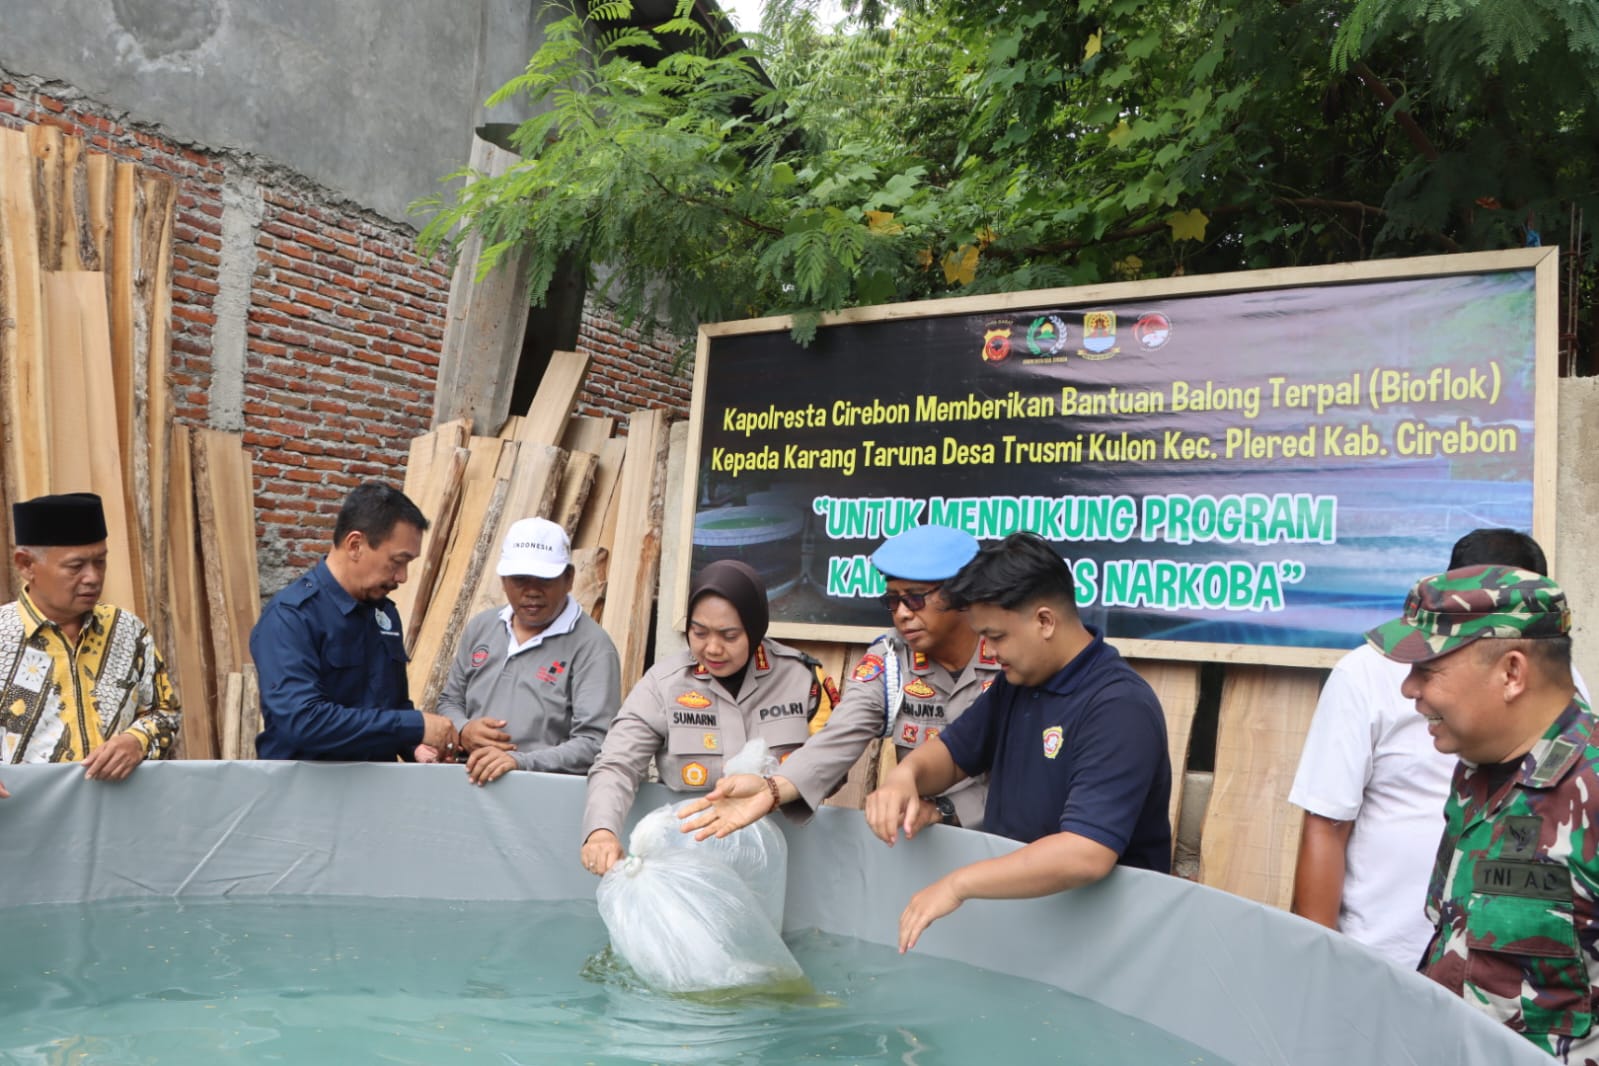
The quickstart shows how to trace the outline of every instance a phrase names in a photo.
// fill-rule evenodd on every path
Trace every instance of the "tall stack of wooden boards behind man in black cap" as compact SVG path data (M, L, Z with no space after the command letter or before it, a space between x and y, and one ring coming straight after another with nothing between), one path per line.
M176 201L171 177L61 129L0 129L0 540L11 502L101 495L102 598L150 626L184 750L216 758L217 698L243 682L259 614L254 492L238 436L171 425ZM0 567L0 603L13 579Z

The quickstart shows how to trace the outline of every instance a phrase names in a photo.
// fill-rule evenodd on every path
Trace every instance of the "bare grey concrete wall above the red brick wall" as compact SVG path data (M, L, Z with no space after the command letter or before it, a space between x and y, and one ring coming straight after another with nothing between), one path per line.
M0 0L0 69L389 219L465 165L539 43L534 0Z

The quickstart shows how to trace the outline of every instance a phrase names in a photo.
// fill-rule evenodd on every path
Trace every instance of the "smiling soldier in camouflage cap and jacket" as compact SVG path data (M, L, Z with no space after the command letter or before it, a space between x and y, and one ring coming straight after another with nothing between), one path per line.
M1410 663L1404 695L1460 756L1422 972L1557 1060L1599 1066L1599 743L1569 633L1559 585L1477 566L1420 582L1366 639Z

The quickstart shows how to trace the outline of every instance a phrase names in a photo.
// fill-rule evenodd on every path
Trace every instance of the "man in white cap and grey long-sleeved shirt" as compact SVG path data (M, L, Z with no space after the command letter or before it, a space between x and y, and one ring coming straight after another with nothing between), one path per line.
M510 527L496 572L507 604L467 622L438 697L461 730L467 777L587 774L622 703L611 636L572 599L566 531L545 518Z

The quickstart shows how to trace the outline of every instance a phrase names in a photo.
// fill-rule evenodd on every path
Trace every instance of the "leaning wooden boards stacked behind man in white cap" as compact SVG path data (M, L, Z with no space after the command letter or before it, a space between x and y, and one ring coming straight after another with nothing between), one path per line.
M467 619L502 607L500 545L523 518L548 518L572 539L572 593L622 657L624 690L644 670L660 563L667 416L636 411L627 436L612 419L572 416L588 356L556 352L524 416L499 436L445 422L411 443L405 492L429 518L422 556L395 601L411 652L411 698L432 710Z

